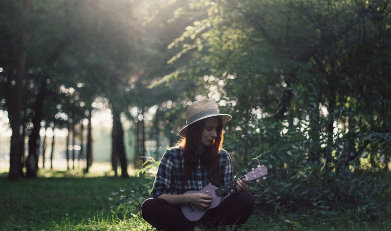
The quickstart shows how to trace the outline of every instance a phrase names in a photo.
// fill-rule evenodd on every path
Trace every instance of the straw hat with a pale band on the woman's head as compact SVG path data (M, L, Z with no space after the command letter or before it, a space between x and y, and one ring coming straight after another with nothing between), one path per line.
M215 102L213 102L212 100L199 100L193 102L186 110L187 125L179 131L179 135L181 137L186 137L187 127L189 125L199 120L213 116L221 116L223 124L227 123L232 118L232 116L228 114L220 114L218 112Z

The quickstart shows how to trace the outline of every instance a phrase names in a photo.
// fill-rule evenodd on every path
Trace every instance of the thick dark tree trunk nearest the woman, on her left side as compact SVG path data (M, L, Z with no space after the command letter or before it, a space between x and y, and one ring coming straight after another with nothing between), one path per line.
M113 130L112 130L112 164L117 163L119 159L121 164L121 177L127 178L128 162L126 160L124 130L122 128L120 113L112 110L113 113ZM115 173L115 170L114 170Z

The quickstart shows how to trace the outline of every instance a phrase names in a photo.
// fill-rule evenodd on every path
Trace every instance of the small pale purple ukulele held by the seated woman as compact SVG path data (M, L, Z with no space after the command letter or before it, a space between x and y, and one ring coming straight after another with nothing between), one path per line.
M246 178L248 180L255 180L266 174L267 174L267 168L262 165L262 166L258 166L258 168L256 169L252 169L250 172L240 177L240 179ZM184 194L197 193L197 192L209 194L210 196L212 196L212 202L208 206L208 208L205 209L198 208L192 203L182 205L181 206L182 213L183 215L185 215L185 217L188 220L198 221L205 214L206 210L215 208L220 204L221 196L225 195L225 193L235 188L236 188L236 180L220 188L217 188L216 186L213 185L208 185L205 188L198 191L187 191Z

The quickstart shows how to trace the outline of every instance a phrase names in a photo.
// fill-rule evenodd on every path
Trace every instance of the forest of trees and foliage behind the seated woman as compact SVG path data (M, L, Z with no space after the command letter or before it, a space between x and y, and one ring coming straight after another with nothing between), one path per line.
M268 168L252 187L260 208L387 216L390 12L389 0L1 0L8 179L36 178L61 134L59 158L88 172L99 115L112 170L129 177L209 98L233 116L235 173L254 158Z

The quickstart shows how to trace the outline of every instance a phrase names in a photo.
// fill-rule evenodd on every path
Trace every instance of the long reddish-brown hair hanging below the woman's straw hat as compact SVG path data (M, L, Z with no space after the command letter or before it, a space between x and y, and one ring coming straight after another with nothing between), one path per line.
M218 126L217 126L217 137L213 140L210 146L205 146L203 150L203 155L206 156L205 162L203 163L208 168L208 179L217 184L219 180L219 170L220 166L218 163L218 152L220 151L223 144L223 126L221 117L217 116ZM185 185L187 185L187 180L191 169L195 166L193 159L195 158L195 153L197 146L201 140L201 134L205 129L205 120L202 119L197 121L187 128L186 137L182 138L178 142L178 146L183 149L184 153L184 174L183 180Z

